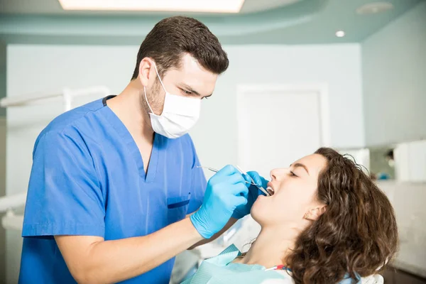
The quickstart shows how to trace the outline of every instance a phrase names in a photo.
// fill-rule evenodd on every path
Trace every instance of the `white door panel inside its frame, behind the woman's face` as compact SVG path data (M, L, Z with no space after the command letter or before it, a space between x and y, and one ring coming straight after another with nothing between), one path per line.
M291 87L239 92L239 165L269 177L322 146L321 92Z

